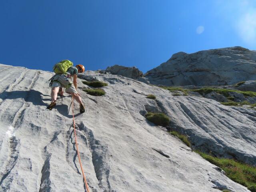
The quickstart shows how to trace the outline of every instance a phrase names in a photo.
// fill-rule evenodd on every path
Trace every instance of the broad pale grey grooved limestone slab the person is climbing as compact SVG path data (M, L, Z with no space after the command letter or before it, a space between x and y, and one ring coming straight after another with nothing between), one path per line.
M85 191L71 97L65 93L56 108L46 109L52 75L0 64L0 191ZM104 96L79 91L84 114L75 103L78 146L90 191L249 192L143 114L164 112L170 128L187 134L194 148L256 165L254 110L196 96L175 97L112 74L89 71L80 78L108 83ZM78 79L78 87L83 86Z

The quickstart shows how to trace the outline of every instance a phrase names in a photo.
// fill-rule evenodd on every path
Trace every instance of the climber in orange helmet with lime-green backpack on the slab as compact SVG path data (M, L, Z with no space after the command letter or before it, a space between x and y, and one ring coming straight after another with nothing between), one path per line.
M63 96L64 88L66 88L66 93L71 94L80 104L80 113L84 113L84 104L81 100L80 94L77 92L77 75L78 73L84 72L84 66L78 64L74 67L71 61L62 60L54 65L53 69L56 74L49 80L50 87L52 88L52 102L47 108L52 110L52 108L56 106L58 94ZM72 77L73 82L71 81Z

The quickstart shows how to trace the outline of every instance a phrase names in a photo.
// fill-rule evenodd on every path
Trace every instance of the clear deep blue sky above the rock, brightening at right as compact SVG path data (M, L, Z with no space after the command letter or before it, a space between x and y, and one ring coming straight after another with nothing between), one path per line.
M256 50L254 0L0 0L0 63L146 72L176 52Z

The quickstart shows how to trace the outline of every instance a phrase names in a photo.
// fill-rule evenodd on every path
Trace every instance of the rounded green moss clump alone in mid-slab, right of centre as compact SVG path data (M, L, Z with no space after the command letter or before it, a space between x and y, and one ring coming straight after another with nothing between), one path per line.
M166 114L163 113L147 113L145 117L152 123L159 126L168 126L170 123L170 119Z

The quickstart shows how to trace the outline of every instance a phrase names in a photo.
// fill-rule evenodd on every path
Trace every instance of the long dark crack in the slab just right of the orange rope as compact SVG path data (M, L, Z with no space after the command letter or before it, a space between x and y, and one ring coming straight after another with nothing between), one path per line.
M102 146L99 140L94 138L92 130L88 129L84 124L81 125L86 133L90 152L92 154L92 164L94 166L94 172L99 182L98 186L104 190L104 192L111 191L111 185L109 182L110 168L106 163L107 147Z

